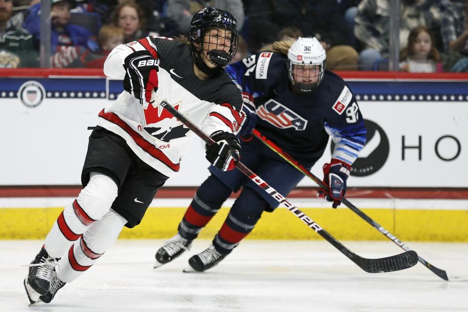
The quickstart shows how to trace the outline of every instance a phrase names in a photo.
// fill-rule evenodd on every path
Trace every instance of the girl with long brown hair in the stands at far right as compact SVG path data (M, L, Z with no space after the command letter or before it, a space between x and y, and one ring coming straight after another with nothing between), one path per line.
M408 44L400 54L400 70L409 73L442 72L440 55L433 42L434 36L427 27L413 28Z

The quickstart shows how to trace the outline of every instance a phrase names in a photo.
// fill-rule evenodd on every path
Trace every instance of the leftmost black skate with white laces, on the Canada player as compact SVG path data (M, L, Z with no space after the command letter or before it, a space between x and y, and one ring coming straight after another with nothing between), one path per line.
M28 276L23 281L24 289L31 304L39 300L40 295L49 291L50 280L57 264L56 258L52 258L44 247L29 265Z

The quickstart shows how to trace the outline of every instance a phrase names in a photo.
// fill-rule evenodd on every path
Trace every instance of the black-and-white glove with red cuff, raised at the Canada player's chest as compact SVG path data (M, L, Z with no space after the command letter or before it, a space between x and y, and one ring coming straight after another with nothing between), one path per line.
M125 58L123 88L140 101L151 103L151 92L157 90L159 60L148 51L137 51Z

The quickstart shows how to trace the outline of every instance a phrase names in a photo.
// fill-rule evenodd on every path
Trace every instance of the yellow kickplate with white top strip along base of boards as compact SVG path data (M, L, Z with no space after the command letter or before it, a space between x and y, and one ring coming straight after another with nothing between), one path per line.
M190 204L190 198L155 199L143 221L134 229L125 228L120 238L168 238ZM211 239L220 229L234 199L228 199L201 232ZM43 239L68 197L0 198L0 239ZM386 240L350 209L332 209L327 202L292 198L292 203L340 240ZM358 199L350 201L401 241L468 241L467 200ZM264 213L251 239L322 239L285 208Z

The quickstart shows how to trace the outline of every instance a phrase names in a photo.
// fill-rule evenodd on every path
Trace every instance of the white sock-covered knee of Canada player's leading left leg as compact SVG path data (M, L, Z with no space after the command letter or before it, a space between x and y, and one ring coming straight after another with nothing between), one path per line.
M88 184L78 195L78 205L94 220L102 218L117 197L117 184L109 176L92 172Z

